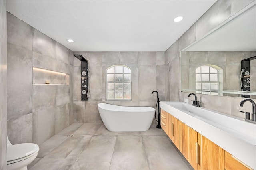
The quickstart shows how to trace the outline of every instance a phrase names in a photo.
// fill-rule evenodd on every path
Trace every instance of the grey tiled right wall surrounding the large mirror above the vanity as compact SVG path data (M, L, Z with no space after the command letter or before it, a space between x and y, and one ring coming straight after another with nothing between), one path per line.
M206 33L218 26L224 20L234 15L236 12L253 2L253 0L225 0L217 1L195 24L193 24L174 44L172 44L165 51L166 66L169 67L166 73L166 79L169 79L167 101L184 101L188 98L189 93L180 91L180 51L190 43L202 38ZM215 22L211 22L214 17L221 16ZM226 97L214 95L200 95L198 94L198 101L202 102L202 107L220 111L237 117L244 117L239 111L240 101L243 98ZM188 100L191 103L191 100ZM254 99L254 101L256 101ZM243 111L251 112L252 106L248 102L242 108Z

